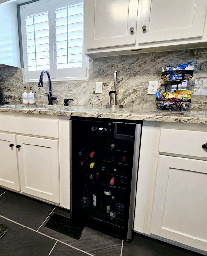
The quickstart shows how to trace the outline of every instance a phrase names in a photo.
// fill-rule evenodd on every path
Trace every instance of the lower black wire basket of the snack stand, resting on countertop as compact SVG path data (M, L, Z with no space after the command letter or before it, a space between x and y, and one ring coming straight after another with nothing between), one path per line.
M159 109L181 110L188 109L191 99L156 98Z

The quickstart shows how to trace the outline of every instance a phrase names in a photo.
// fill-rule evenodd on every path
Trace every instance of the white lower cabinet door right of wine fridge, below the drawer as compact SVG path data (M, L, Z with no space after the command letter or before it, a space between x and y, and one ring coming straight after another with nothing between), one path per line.
M160 156L150 233L207 248L207 161Z

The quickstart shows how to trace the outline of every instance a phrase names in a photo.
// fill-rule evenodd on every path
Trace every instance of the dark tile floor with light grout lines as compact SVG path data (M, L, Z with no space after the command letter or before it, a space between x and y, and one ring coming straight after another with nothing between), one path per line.
M0 255L201 256L140 234L125 242L88 227L78 241L44 226L54 212L69 217L67 210L0 188L0 223L10 227L0 239Z

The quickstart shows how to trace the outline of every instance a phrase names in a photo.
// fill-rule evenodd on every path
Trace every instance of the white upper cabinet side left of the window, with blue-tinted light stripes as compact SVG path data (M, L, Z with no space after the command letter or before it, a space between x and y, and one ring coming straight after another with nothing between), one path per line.
M0 65L20 67L16 4L0 4L0 24Z

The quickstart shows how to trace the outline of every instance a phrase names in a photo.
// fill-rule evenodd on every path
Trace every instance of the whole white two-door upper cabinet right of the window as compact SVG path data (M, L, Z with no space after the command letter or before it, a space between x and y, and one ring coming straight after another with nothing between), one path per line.
M206 0L88 0L84 54L95 57L206 47Z

